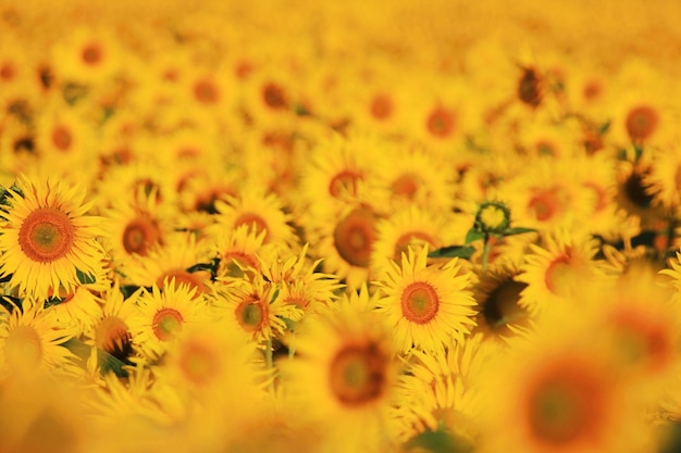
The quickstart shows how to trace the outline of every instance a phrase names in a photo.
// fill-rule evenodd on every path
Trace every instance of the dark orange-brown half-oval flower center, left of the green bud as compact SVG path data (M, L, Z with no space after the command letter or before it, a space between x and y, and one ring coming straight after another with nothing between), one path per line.
M371 211L358 209L342 219L334 229L334 246L343 260L352 266L368 267L375 239Z

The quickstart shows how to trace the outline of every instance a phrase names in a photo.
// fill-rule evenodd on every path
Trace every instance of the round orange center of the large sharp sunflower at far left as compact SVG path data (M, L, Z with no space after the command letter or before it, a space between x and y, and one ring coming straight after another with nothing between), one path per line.
M18 244L26 256L39 263L51 263L69 253L75 228L63 212L53 207L33 211L18 230Z

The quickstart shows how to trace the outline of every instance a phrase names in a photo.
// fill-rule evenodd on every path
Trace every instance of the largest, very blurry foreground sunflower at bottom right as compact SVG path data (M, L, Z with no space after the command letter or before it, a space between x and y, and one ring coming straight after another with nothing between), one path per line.
M480 452L615 453L651 446L640 407L610 366L608 349L592 337L589 323L560 310L531 336L515 337L506 353L471 377L484 397Z

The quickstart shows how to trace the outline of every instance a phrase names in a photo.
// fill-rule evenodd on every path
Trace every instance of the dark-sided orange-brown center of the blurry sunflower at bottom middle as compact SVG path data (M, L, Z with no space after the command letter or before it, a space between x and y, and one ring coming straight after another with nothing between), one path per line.
M385 391L388 363L377 344L347 345L331 362L331 391L348 406L371 403Z

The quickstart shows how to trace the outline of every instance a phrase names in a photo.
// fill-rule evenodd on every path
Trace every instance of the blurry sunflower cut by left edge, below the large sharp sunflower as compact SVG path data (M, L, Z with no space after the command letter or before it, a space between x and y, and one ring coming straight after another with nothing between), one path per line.
M49 316L49 309L33 298L24 299L21 307L0 309L0 375L77 376L77 357L64 344L77 335L74 324L59 323Z

